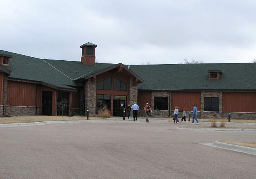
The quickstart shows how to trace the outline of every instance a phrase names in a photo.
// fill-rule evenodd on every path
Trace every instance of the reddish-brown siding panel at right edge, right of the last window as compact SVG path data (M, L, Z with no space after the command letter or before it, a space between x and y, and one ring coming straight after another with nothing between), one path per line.
M256 112L256 92L223 92L223 112Z

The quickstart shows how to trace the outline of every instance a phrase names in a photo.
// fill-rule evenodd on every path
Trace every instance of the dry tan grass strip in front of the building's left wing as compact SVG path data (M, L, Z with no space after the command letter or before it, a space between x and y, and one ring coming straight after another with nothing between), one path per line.
M80 121L86 120L84 116L12 116L0 118L0 124L8 123L32 123L41 121ZM112 118L89 118L89 120L117 120Z

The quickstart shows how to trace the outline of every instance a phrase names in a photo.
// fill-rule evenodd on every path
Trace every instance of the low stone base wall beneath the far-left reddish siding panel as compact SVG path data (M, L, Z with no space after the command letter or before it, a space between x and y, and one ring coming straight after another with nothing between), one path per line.
M9 116L32 116L36 115L35 107L20 107L20 106L5 106L5 113ZM37 114L39 114L39 107L37 107Z

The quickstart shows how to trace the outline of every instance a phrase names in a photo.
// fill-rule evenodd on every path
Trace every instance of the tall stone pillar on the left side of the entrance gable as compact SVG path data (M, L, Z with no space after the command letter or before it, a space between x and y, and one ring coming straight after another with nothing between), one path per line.
M96 81L88 79L85 82L85 110L89 109L89 116L96 115Z

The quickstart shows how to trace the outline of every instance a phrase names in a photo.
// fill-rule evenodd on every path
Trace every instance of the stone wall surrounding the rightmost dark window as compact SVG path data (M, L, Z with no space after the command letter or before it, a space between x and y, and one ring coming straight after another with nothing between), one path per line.
M219 97L219 112L207 112L204 111L204 97ZM199 118L199 116L198 116ZM221 91L211 91L211 92L206 92L202 91L201 92L201 116L200 118L202 119L211 119L211 118L217 118L221 119L222 118L222 92Z

